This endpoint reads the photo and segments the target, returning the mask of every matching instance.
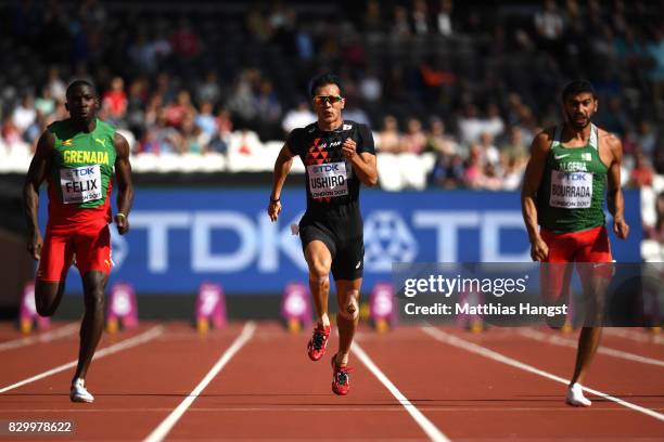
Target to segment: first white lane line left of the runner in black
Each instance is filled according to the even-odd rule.
[[[199,398],[201,392],[207,387],[209,382],[221,372],[221,369],[230,362],[230,360],[244,347],[252,336],[254,335],[254,330],[256,329],[256,324],[253,322],[248,322],[242,328],[242,333],[235,338],[233,343],[221,354],[221,358],[217,361],[217,363],[212,367],[207,375],[199,382],[196,388],[192,390],[191,393],[182,402],[177,406],[169,415],[159,424],[145,439],[144,442],[157,442],[163,441],[168,432],[173,429],[173,427],[178,422],[180,417],[187,412],[187,408],[191,406],[193,401]]]

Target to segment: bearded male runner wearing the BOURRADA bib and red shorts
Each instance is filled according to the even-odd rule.
[[[569,83],[562,92],[562,105],[564,125],[545,130],[535,138],[525,172],[521,200],[531,256],[535,261],[547,263],[612,262],[604,227],[604,198],[617,237],[625,239],[629,233],[621,190],[623,146],[616,136],[590,122],[598,101],[588,81]],[[599,324],[603,301],[599,298],[601,290],[597,290],[598,277],[608,280],[611,266],[592,268],[578,265],[577,270],[586,299],[593,302],[596,317],[592,322]],[[571,271],[569,265],[542,266],[542,292],[548,301],[566,292]],[[599,326],[583,327],[580,332],[574,374],[565,399],[570,405],[591,404],[584,396],[580,382],[600,336]]]

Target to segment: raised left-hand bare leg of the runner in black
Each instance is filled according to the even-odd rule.
[[[322,240],[314,239],[305,248],[305,259],[309,266],[309,289],[314,298],[318,325],[329,327],[328,298],[332,253]]]

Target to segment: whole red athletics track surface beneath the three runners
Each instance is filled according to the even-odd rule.
[[[246,339],[239,344],[240,336]],[[76,356],[77,333],[16,347],[21,338],[0,326],[0,391]],[[68,401],[74,370],[68,368],[1,392],[0,419],[74,420],[74,437],[55,440],[145,440],[149,434],[156,435],[153,440],[164,434],[166,440],[664,439],[664,367],[656,363],[598,354],[587,381],[651,415],[591,394],[593,406],[577,410],[562,402],[564,385],[519,365],[566,379],[573,348],[533,339],[522,329],[472,335],[409,326],[378,335],[365,327],[360,348],[397,390],[390,391],[356,352],[352,392],[339,398],[330,391],[329,367],[336,338],[317,363],[306,358],[307,339],[308,334],[290,335],[274,323],[255,329],[231,324],[204,338],[189,324],[142,324],[104,335],[100,352],[106,354],[88,376],[94,404]],[[611,335],[602,344],[664,361],[661,343]],[[214,367],[218,370],[210,375]],[[403,403],[395,394],[405,396]],[[157,428],[166,430],[155,433]],[[0,437],[5,440],[35,438]]]

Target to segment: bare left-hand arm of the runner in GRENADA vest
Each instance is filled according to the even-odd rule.
[[[51,167],[55,140],[48,130],[44,131],[37,142],[35,156],[30,161],[25,184],[23,186],[23,204],[25,220],[28,226],[27,249],[35,260],[41,256],[41,232],[39,232],[39,186],[46,180]]]

